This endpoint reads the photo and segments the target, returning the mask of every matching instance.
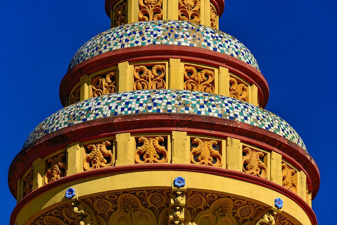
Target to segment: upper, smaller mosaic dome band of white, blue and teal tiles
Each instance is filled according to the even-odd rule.
[[[238,58],[260,71],[251,52],[233,36],[201,24],[177,20],[125,24],[100,33],[75,53],[67,71],[96,55],[145,45],[182,45],[208,49]],[[223,57],[226,58],[226,55]]]

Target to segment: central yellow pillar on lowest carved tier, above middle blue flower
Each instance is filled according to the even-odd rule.
[[[188,164],[187,132],[172,131],[172,164]]]

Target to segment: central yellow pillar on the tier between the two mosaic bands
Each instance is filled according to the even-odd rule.
[[[168,88],[170,89],[184,89],[184,73],[180,65],[180,59],[170,59],[169,73],[168,73]]]

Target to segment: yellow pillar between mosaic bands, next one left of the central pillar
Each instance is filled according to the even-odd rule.
[[[118,92],[132,90],[130,65],[128,61],[118,63],[117,85]]]

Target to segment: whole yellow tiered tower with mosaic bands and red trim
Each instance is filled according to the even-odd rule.
[[[71,60],[65,108],[10,167],[11,223],[316,224],[317,167],[263,109],[253,55],[217,30],[223,1],[105,8],[112,29]]]

